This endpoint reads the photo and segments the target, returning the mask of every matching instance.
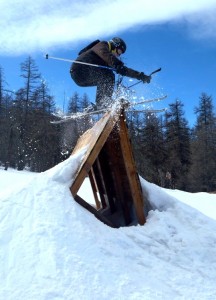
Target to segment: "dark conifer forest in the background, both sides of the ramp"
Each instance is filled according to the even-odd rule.
[[[23,86],[8,90],[0,66],[0,166],[43,172],[70,156],[78,137],[93,126],[86,116],[52,124],[56,103],[31,57],[20,64]],[[216,191],[216,116],[205,92],[194,107],[195,124],[176,98],[164,113],[127,113],[138,173],[161,187],[188,192]],[[90,105],[87,94],[71,96],[68,113]]]

